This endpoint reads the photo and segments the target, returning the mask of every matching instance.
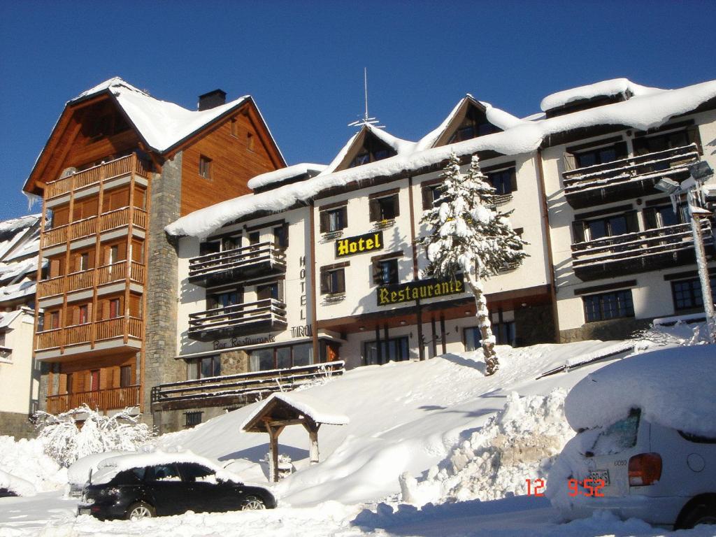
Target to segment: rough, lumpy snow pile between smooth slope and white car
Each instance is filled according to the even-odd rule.
[[[565,396],[565,390],[528,397],[512,392],[504,409],[455,448],[442,468],[433,466],[422,481],[401,475],[402,500],[425,505],[526,494],[526,480],[534,488],[536,479],[545,479],[553,457],[574,435],[564,419]]]

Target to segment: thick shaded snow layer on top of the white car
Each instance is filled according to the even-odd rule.
[[[569,392],[574,430],[642,417],[696,435],[716,436],[716,345],[675,347],[629,357],[589,374]]]

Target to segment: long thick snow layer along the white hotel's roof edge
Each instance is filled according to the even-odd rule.
[[[395,144],[392,147],[400,148],[397,155],[347,170],[332,171],[345,157],[358,136],[357,133],[328,168],[316,177],[300,183],[284,185],[270,192],[243,195],[200,209],[171,223],[165,231],[175,236],[204,238],[237,218],[258,211],[285,211],[298,203],[308,203],[323,190],[345,187],[360,180],[412,173],[442,163],[453,151],[458,156],[474,155],[488,150],[503,155],[519,155],[537,150],[543,140],[550,135],[578,128],[627,125],[639,130],[648,130],[663,125],[671,117],[690,112],[703,102],[715,98],[716,80],[679,89],[647,89],[648,91],[644,92],[637,91],[634,97],[627,101],[532,121],[520,120],[492,107],[489,103],[483,103],[488,120],[503,128],[502,132],[429,148],[420,148],[422,147],[420,142],[406,142],[392,137],[392,143]],[[372,127],[372,132],[377,131],[381,132],[382,140],[389,139],[390,135]]]

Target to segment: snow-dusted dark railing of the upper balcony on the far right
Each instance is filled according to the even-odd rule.
[[[664,151],[647,153],[610,163],[595,164],[562,173],[564,194],[568,201],[591,190],[614,189],[629,183],[649,181],[652,187],[657,180],[688,173],[688,165],[699,160],[695,143]]]

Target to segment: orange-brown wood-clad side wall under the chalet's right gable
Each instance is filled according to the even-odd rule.
[[[231,134],[231,120],[236,119]],[[249,135],[251,135],[249,137]],[[253,140],[253,142],[250,142]],[[249,149],[253,145],[253,150]],[[211,159],[211,179],[199,175],[199,159]],[[248,194],[249,179],[275,170],[251,115],[237,112],[216,129],[185,148],[182,156],[181,216],[219,201]]]

